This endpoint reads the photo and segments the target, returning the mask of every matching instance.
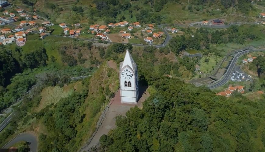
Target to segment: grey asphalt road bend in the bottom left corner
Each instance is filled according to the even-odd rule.
[[[7,144],[5,144],[5,146],[2,147],[2,148],[9,148],[12,145],[14,145],[15,143],[19,142],[19,141],[27,141],[27,142],[29,142],[30,143],[30,152],[37,152],[37,147],[38,147],[37,137],[34,136],[31,133],[21,133],[21,134],[19,134],[14,139],[12,139]]]

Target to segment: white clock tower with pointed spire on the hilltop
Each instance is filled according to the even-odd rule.
[[[121,103],[136,104],[139,96],[138,70],[128,49],[120,63],[120,86]]]

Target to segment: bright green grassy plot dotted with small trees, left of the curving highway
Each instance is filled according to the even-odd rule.
[[[208,58],[209,62],[205,62],[204,61],[205,58]],[[222,60],[221,57],[217,57],[217,58],[216,57],[202,57],[200,59],[200,71],[203,73],[210,73],[210,71],[214,70],[214,67],[220,60]]]

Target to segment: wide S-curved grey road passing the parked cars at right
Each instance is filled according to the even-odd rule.
[[[265,51],[264,49],[257,49],[257,50],[245,50],[245,51],[241,51],[237,54],[235,54],[233,60],[231,61],[228,69],[226,70],[225,74],[223,75],[223,79],[221,79],[220,81],[217,81],[217,83],[213,84],[213,85],[209,85],[208,88],[210,89],[214,89],[214,88],[217,88],[217,87],[220,87],[221,85],[224,85],[226,84],[226,82],[229,80],[230,76],[231,76],[231,73],[235,67],[235,64],[238,60],[238,58],[245,54],[245,53],[249,53],[249,52],[255,52],[255,51]]]

